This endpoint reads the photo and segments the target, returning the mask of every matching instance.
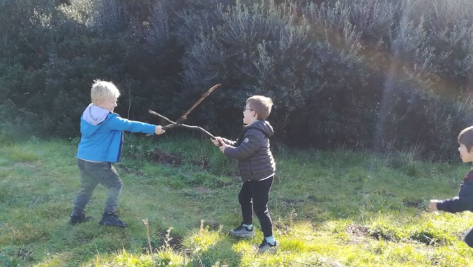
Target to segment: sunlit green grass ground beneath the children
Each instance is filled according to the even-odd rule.
[[[471,213],[425,213],[456,196],[469,166],[352,151],[276,154],[269,210],[280,250],[227,235],[241,221],[236,165],[211,142],[127,137],[119,213],[126,229],[67,224],[80,187],[77,140],[0,146],[0,266],[469,266]],[[408,160],[405,160],[407,158]],[[144,224],[147,220],[149,227]],[[256,218],[255,226],[259,229]],[[151,250],[150,250],[151,247]]]

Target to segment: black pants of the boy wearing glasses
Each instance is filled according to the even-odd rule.
[[[273,222],[268,211],[269,190],[273,179],[274,176],[263,181],[246,181],[241,185],[238,194],[243,224],[253,224],[253,211],[255,211],[265,237],[273,236]]]

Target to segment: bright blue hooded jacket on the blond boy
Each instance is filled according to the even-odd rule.
[[[154,134],[156,125],[129,121],[90,104],[80,119],[77,158],[97,162],[119,162],[123,146],[123,131]]]

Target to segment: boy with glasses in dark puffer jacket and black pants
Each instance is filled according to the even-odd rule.
[[[212,140],[220,146],[220,151],[239,162],[239,172],[243,185],[238,194],[243,222],[230,235],[250,238],[255,234],[253,228],[253,210],[260,220],[263,241],[258,252],[276,250],[278,244],[273,237],[273,222],[268,211],[269,190],[274,179],[276,163],[269,149],[269,137],[273,128],[266,121],[271,113],[273,101],[265,96],[252,96],[246,100],[243,109],[243,124],[237,141],[222,137]]]

